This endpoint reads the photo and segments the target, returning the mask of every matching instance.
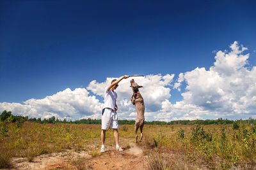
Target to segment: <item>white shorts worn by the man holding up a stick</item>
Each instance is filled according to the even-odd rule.
[[[101,129],[107,130],[109,125],[111,129],[119,129],[116,111],[105,108],[101,117]]]

